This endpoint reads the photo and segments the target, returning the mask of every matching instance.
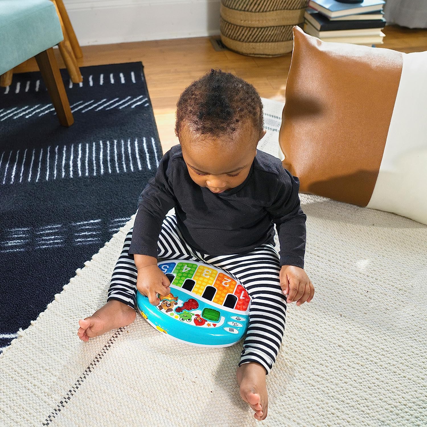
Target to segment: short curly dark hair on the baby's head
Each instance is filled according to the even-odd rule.
[[[199,135],[232,135],[237,123],[250,120],[260,137],[264,129],[263,104],[248,82],[211,69],[185,88],[176,104],[175,135],[182,123]]]

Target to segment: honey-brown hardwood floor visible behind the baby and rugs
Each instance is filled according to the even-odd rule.
[[[427,50],[427,30],[386,26],[381,47],[401,52]],[[252,58],[229,50],[215,51],[208,37],[141,41],[82,47],[80,66],[142,61],[160,141],[164,152],[178,142],[174,133],[175,104],[193,80],[211,68],[221,68],[252,83],[261,97],[284,100],[291,54]],[[57,51],[57,50],[56,50]],[[56,52],[59,66],[64,63]],[[15,72],[37,70],[32,58]]]

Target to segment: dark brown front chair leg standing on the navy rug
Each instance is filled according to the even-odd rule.
[[[59,123],[62,126],[71,126],[74,123],[73,114],[71,114],[70,102],[64,88],[64,82],[59,72],[58,63],[53,53],[53,48],[39,53],[35,56],[44,84],[47,87]]]

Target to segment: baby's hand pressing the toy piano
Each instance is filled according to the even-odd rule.
[[[170,281],[158,268],[157,264],[148,265],[138,269],[136,281],[137,290],[146,295],[151,304],[157,305],[160,299],[156,294],[167,295],[170,292]]]

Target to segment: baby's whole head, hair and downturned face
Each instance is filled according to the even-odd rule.
[[[260,95],[239,77],[211,70],[179,97],[175,134],[196,184],[213,193],[237,187],[265,134]]]

